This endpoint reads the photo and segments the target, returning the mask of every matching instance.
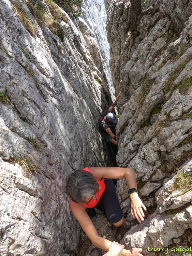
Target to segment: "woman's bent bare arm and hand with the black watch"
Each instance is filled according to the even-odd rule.
[[[96,180],[100,181],[102,178],[106,179],[120,179],[125,178],[129,189],[136,188],[137,182],[135,179],[135,173],[132,169],[121,167],[91,167],[89,171],[93,174]],[[133,217],[137,219],[139,223],[144,221],[143,209],[146,211],[145,205],[142,203],[136,192],[130,194],[131,198],[131,213]],[[143,207],[143,209],[142,209]]]

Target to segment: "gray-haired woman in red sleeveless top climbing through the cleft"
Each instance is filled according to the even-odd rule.
[[[115,188],[111,179],[125,178],[131,198],[131,213],[138,222],[144,221],[142,207],[145,205],[137,194],[137,182],[132,169],[119,167],[86,167],[68,175],[66,193],[74,216],[79,221],[91,242],[104,251],[109,250],[112,242],[98,235],[88,210],[91,208],[103,211],[114,226],[119,227],[124,222],[123,212],[119,205]],[[88,208],[88,209],[87,209]],[[122,251],[122,256],[140,256],[142,248],[132,248]],[[146,255],[146,254],[145,254]]]

